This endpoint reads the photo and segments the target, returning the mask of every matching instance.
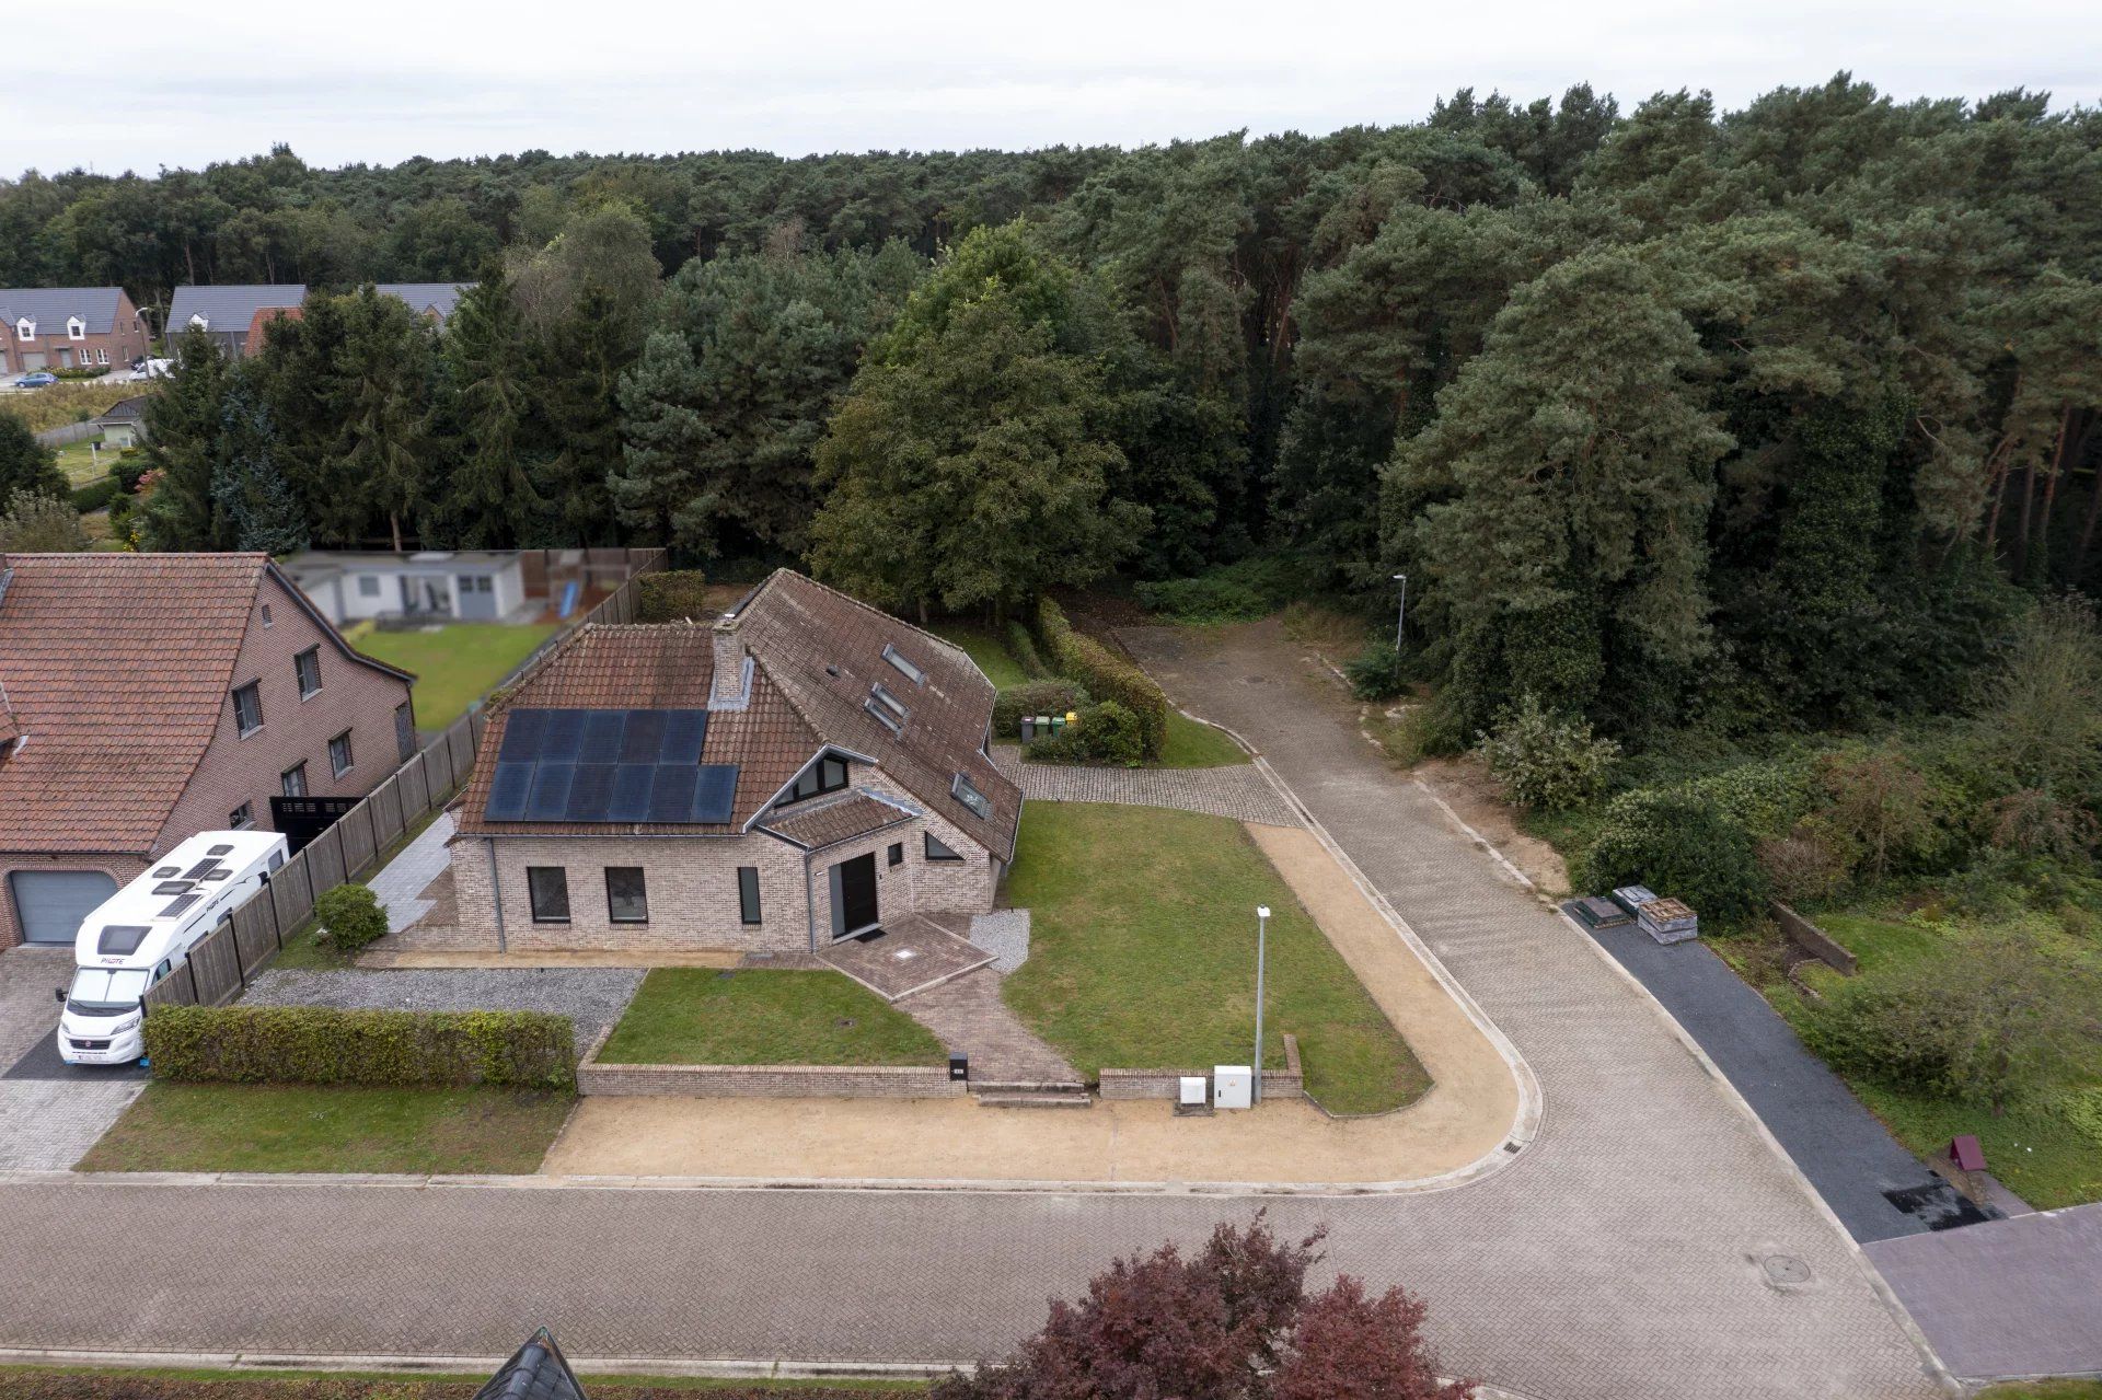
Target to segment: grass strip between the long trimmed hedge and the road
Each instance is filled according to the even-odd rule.
[[[513,1089],[153,1083],[80,1171],[540,1169],[574,1099]]]

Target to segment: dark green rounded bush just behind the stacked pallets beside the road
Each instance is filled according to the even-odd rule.
[[[1711,929],[1749,925],[1768,883],[1751,835],[1713,801],[1679,792],[1623,792],[1606,803],[1598,839],[1570,868],[1576,889],[1648,885],[1686,900]]]

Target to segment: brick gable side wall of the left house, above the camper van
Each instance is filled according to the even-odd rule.
[[[265,608],[271,612],[269,626],[263,626]],[[301,700],[292,658],[307,647],[320,647],[322,689]],[[231,692],[250,681],[261,689],[263,727],[242,738]],[[408,702],[408,683],[343,656],[292,589],[271,572],[263,574],[263,586],[256,589],[248,635],[227,692],[219,706],[219,729],[162,828],[156,853],[200,830],[227,826],[242,803],[250,803],[254,824],[269,830],[269,799],[282,792],[284,769],[294,763],[307,765],[309,797],[364,797],[401,765],[395,706]],[[345,729],[351,732],[351,769],[336,778],[328,763],[328,740]]]

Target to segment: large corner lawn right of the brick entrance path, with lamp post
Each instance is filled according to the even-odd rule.
[[[1032,803],[1007,898],[1028,906],[1030,961],[1003,984],[1030,1028],[1093,1078],[1246,1064],[1255,1043],[1255,906],[1270,921],[1263,1059],[1299,1038],[1307,1093],[1333,1112],[1398,1108],[1423,1066],[1225,818],[1158,807]]]

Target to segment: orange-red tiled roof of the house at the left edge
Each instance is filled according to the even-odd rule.
[[[219,727],[269,555],[0,555],[0,687],[23,734],[0,759],[0,849],[151,849]]]

